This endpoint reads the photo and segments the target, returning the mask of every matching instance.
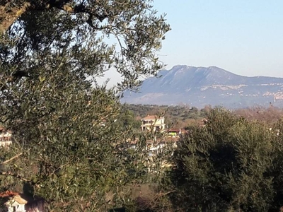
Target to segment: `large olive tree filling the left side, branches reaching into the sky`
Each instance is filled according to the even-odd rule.
[[[118,90],[139,86],[163,66],[168,30],[151,1],[0,1],[0,124],[14,140],[0,189],[64,211],[127,204],[121,188],[144,175],[143,153],[125,151],[117,90],[96,79],[117,71]]]

